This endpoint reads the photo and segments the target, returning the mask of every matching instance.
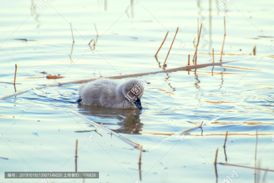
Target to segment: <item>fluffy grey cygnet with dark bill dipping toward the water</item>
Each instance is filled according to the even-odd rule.
[[[84,83],[79,87],[78,102],[84,105],[110,107],[117,109],[142,109],[141,96],[144,92],[143,80],[133,78],[119,81],[114,79],[98,79]]]

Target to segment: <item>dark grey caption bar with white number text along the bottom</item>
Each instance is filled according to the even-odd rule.
[[[99,178],[98,171],[5,171],[5,178]]]

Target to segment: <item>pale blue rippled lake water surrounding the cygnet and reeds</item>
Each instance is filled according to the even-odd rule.
[[[0,182],[40,181],[5,179],[5,171],[75,171],[76,140],[77,171],[98,171],[99,179],[50,182],[227,182],[231,172],[233,183],[273,182],[273,171],[246,167],[274,170],[274,2],[106,2],[1,2]],[[148,83],[142,111],[79,105],[80,83],[36,89],[183,67],[188,54],[192,65],[197,19],[197,64],[213,62],[212,48],[220,62],[224,16],[222,60],[234,62],[138,76]],[[128,140],[146,150],[141,171],[140,150]],[[218,178],[217,148],[217,163],[233,164],[217,164]]]

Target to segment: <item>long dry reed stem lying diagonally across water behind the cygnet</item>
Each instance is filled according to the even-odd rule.
[[[198,65],[189,65],[189,66],[176,67],[176,68],[173,68],[173,69],[166,69],[166,70],[156,71],[156,72],[144,72],[144,73],[137,73],[137,74],[126,74],[126,75],[119,75],[119,76],[109,76],[109,77],[104,77],[104,78],[113,78],[113,79],[130,78],[130,77],[144,76],[144,75],[149,75],[149,74],[167,73],[167,72],[174,72],[174,71],[185,71],[185,70],[202,68],[202,67],[213,66],[213,65],[222,65],[222,64],[230,63],[230,62],[234,62],[234,61],[209,63],[209,64],[198,64]],[[47,87],[51,87],[51,86],[65,85],[65,84],[71,84],[71,83],[83,83],[83,82],[87,82],[87,81],[93,81],[93,80],[96,80],[96,79],[99,79],[99,78],[83,79],[83,80],[68,81],[68,82],[61,82],[61,83],[58,82],[58,83],[51,84],[51,85],[45,85],[45,86],[36,87],[35,89],[38,90],[38,89],[47,88]],[[14,95],[18,95],[18,94],[21,94],[21,93],[24,93],[24,92],[27,92],[27,91],[30,91],[30,90],[31,89],[23,90],[23,91],[20,91],[20,92],[14,92],[12,94],[0,97],[0,99],[11,97],[11,96],[14,96]]]

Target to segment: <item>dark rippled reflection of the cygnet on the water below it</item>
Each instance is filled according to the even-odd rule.
[[[90,116],[92,121],[112,129],[116,133],[140,134],[143,123],[138,109],[112,109],[90,105],[78,105],[79,113]],[[115,127],[114,127],[115,126]],[[118,127],[118,128],[117,128]]]

